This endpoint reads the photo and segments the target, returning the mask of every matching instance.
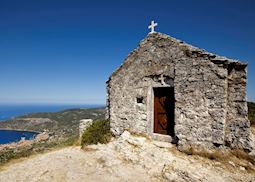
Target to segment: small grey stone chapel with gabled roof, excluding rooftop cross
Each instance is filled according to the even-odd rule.
[[[111,131],[250,151],[246,67],[153,31],[107,81]]]

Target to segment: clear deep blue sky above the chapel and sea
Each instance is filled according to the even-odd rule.
[[[248,66],[255,101],[253,0],[1,0],[0,104],[104,104],[105,81],[157,31]]]

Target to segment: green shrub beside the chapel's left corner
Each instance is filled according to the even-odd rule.
[[[83,147],[90,144],[108,143],[111,137],[110,121],[96,120],[84,131],[81,145]]]

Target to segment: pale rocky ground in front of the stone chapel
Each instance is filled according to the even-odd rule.
[[[251,164],[250,164],[251,165]],[[68,147],[13,161],[0,181],[255,181],[255,166],[186,155],[163,142],[124,132],[106,145]]]

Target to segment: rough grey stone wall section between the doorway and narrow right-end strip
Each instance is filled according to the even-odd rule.
[[[180,145],[224,143],[227,70],[203,58],[176,63],[176,135]]]

